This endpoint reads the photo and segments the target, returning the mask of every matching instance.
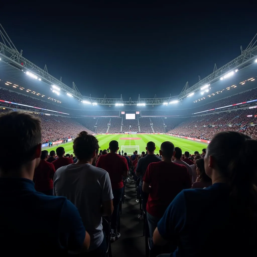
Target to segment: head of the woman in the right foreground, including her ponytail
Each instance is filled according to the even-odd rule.
[[[214,180],[227,182],[231,196],[236,198],[238,204],[256,204],[257,169],[249,161],[256,155],[256,140],[235,131],[219,132],[206,150],[205,172],[213,183]]]

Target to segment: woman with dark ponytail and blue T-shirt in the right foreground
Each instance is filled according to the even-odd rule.
[[[159,221],[154,244],[177,245],[168,255],[174,257],[256,256],[257,168],[249,161],[256,155],[249,136],[215,134],[204,157],[212,186],[181,191]]]

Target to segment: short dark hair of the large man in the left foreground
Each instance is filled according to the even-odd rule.
[[[5,160],[0,162],[0,169],[8,171],[20,168],[31,160],[37,145],[41,143],[41,121],[29,113],[16,111],[0,114],[0,124],[1,144],[5,152],[9,153]],[[15,155],[15,161],[14,145],[19,151]]]

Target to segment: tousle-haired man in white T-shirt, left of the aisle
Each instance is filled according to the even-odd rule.
[[[91,242],[86,256],[106,256],[102,216],[113,212],[111,181],[105,170],[94,167],[98,156],[98,141],[80,132],[74,139],[76,164],[59,168],[54,176],[54,195],[65,196],[76,205]],[[79,182],[77,182],[79,181]]]

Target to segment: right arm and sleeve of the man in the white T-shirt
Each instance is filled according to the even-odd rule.
[[[113,213],[113,193],[108,172],[101,178],[100,183],[102,186],[102,216],[111,216]]]

